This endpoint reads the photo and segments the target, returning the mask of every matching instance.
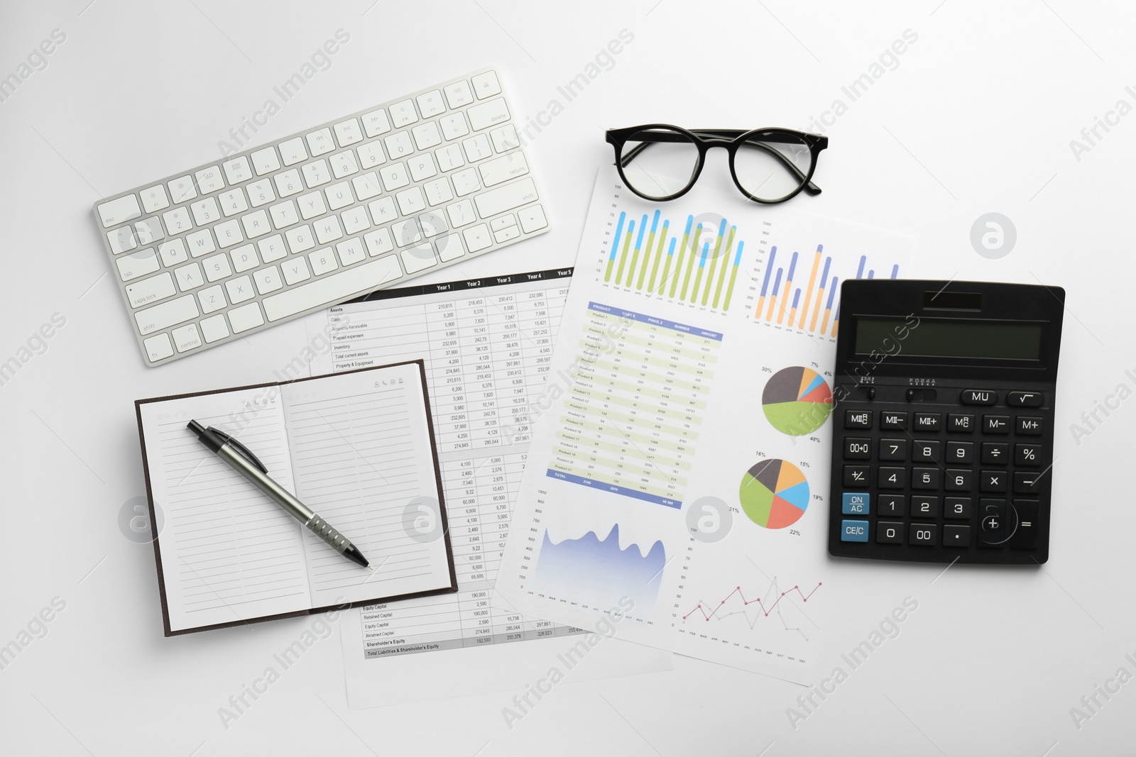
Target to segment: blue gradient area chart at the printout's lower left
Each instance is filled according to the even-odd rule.
[[[588,531],[578,539],[554,542],[545,531],[533,588],[601,609],[619,607],[620,599],[627,598],[635,603],[629,614],[650,616],[666,564],[661,541],[651,545],[646,555],[636,544],[620,549],[618,523],[603,539]]]

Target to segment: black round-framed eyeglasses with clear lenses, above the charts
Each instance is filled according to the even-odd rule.
[[[645,200],[674,200],[690,192],[711,148],[729,152],[734,184],[754,202],[785,202],[801,190],[817,195],[812,171],[828,146],[827,136],[785,128],[688,132],[669,124],[608,129],[607,138],[616,149],[619,176]]]

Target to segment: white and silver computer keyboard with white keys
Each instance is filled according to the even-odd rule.
[[[548,230],[495,69],[100,201],[148,365]]]

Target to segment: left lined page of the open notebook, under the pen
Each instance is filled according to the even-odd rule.
[[[292,489],[276,388],[141,405],[172,631],[311,607],[300,523],[185,428],[215,426]],[[235,420],[235,422],[234,422]]]

